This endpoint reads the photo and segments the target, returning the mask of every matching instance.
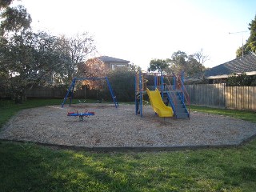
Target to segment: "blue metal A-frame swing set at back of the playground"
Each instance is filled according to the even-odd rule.
[[[84,80],[90,80],[90,81],[105,80],[106,84],[107,84],[107,86],[108,86],[108,88],[110,90],[110,94],[111,94],[111,98],[112,98],[112,100],[114,102],[114,106],[116,108],[118,108],[118,100],[117,100],[116,96],[114,95],[114,92],[113,92],[112,87],[110,85],[110,81],[109,81],[109,79],[107,77],[105,77],[105,78],[74,78],[72,80],[71,85],[69,87],[69,90],[67,91],[66,96],[65,96],[65,98],[64,98],[64,100],[62,102],[62,108],[65,105],[65,102],[66,102],[67,98],[70,98],[70,106],[71,106],[71,102],[72,102],[72,99],[74,97],[75,82],[77,82],[77,81],[84,81]]]

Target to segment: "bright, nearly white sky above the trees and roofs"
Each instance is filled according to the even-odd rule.
[[[206,67],[235,58],[256,15],[255,0],[22,0],[34,30],[75,36],[88,32],[98,55],[146,70],[154,58],[202,49]],[[242,32],[243,31],[243,32]]]

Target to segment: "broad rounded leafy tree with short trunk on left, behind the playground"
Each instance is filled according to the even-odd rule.
[[[6,85],[16,101],[26,100],[30,86],[51,85],[53,75],[62,73],[62,59],[55,42],[55,37],[44,32],[23,31],[0,45],[4,53],[0,66],[6,69]]]

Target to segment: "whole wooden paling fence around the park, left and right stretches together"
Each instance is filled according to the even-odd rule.
[[[154,87],[152,86],[152,89]],[[159,87],[161,89],[161,87]],[[254,110],[256,111],[255,86],[226,86],[221,84],[195,84],[186,85],[190,95],[191,105],[216,106],[227,109]],[[27,90],[29,98],[64,98],[66,89],[55,87],[34,87]],[[77,90],[75,98],[96,98],[96,90]],[[5,91],[0,93],[0,98],[10,97]]]

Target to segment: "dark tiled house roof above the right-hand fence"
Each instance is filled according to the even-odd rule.
[[[221,65],[214,66],[210,70],[206,70],[206,78],[214,78],[216,76],[228,76],[229,74],[238,74],[256,71],[256,54],[244,55],[243,58],[235,58],[230,62],[225,62]],[[248,74],[248,73],[246,73]]]

